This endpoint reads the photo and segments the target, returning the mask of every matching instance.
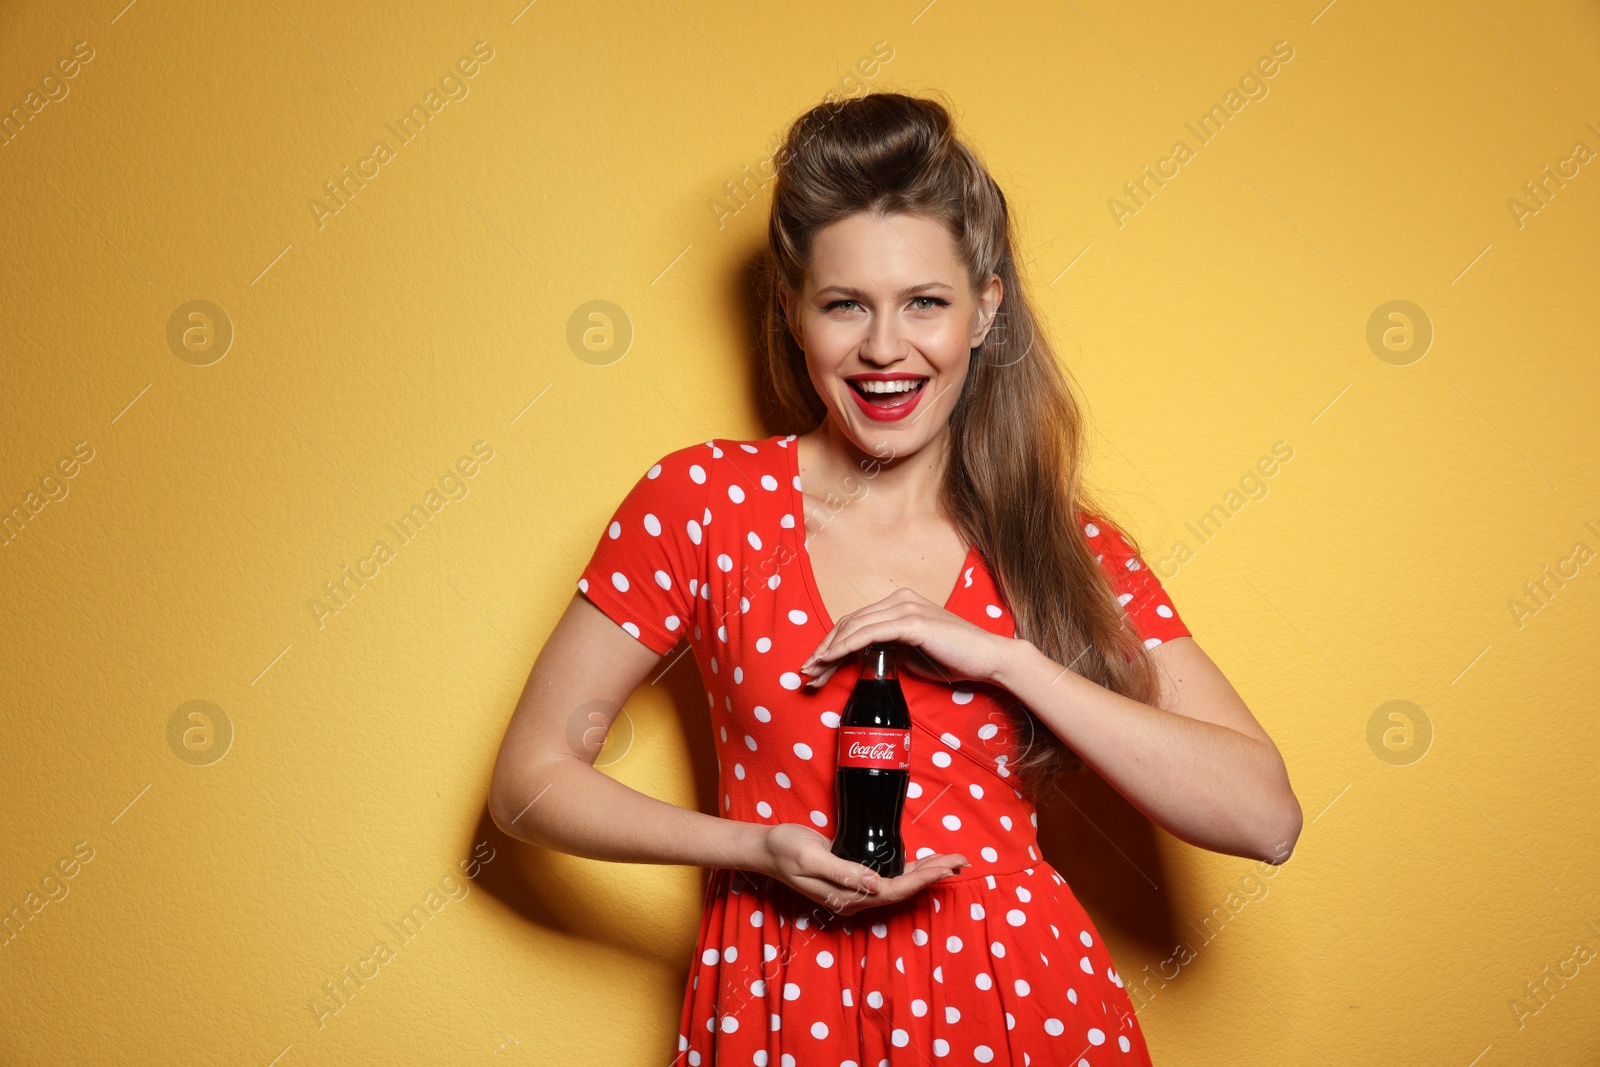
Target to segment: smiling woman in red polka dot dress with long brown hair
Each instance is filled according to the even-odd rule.
[[[1080,483],[1083,421],[1005,197],[931,99],[802,117],[778,155],[765,371],[806,434],[653,464],[539,654],[494,768],[507,833],[710,867],[678,1059],[1149,1064],[1035,797],[1086,763],[1192,845],[1283,862],[1283,760]],[[686,638],[717,814],[594,768]],[[838,859],[838,717],[902,649],[906,872]],[[605,709],[595,713],[595,709]]]

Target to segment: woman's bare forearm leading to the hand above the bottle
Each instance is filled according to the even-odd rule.
[[[1299,805],[1283,760],[1237,729],[1114,693],[1013,641],[995,685],[1179,840],[1230,856],[1288,859]]]

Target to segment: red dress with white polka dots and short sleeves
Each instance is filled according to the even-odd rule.
[[[834,622],[805,545],[794,442],[718,438],[664,456],[616,509],[578,587],[656,653],[690,640],[723,817],[832,838],[838,717],[859,672],[845,664],[821,689],[803,686],[800,664]],[[1122,536],[1083,522],[1144,643],[1187,635]],[[944,606],[1016,635],[976,545]],[[715,869],[674,1064],[1149,1064],[1117,968],[1040,856],[1034,805],[1013,787],[1010,694],[907,670],[899,680],[912,717],[906,848],[971,865],[854,915]]]

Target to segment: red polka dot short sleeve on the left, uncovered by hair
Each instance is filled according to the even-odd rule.
[[[710,493],[709,450],[661,458],[611,514],[578,589],[642,645],[666,654],[688,629]]]

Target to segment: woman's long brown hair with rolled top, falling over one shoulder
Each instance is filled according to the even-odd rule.
[[[1115,693],[1154,702],[1155,662],[1083,530],[1085,517],[1104,512],[1080,482],[1085,419],[1070,376],[1018,275],[1005,195],[957,138],[949,109],[901,93],[826,102],[794,122],[774,160],[760,317],[766,384],[786,414],[803,429],[827,418],[779,301],[779,288],[800,294],[818,230],[859,211],[941,221],[971,290],[990,274],[1005,286],[950,413],[946,509],[989,563],[1019,637]],[[1006,763],[1019,790],[1037,798],[1064,768],[1083,769],[1027,707],[1008,707],[1022,739]]]

